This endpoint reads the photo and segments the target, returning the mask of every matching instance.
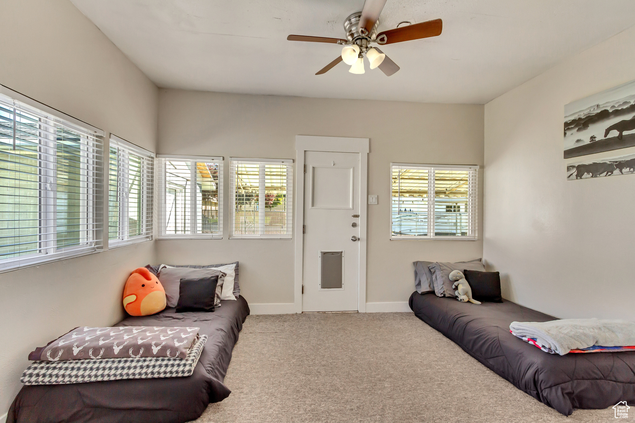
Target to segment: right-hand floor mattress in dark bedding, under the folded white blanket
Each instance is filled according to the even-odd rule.
[[[553,316],[507,300],[471,304],[418,292],[410,296],[410,308],[493,372],[564,415],[574,408],[635,403],[635,352],[559,356],[509,332],[514,320],[547,322]]]

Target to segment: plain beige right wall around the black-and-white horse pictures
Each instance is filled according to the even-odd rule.
[[[635,79],[635,28],[485,106],[485,240],[503,296],[560,318],[635,320],[635,176],[566,181],[564,105]],[[635,148],[587,158],[634,153]]]

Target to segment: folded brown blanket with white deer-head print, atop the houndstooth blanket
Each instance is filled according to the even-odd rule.
[[[34,361],[170,357],[184,359],[197,327],[79,327],[29,354]]]

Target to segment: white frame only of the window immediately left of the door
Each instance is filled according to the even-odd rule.
[[[286,173],[286,233],[272,233],[272,234],[236,234],[234,228],[236,227],[236,186],[234,183],[234,173],[232,172],[234,162],[258,164],[262,166],[259,172],[263,173],[264,166],[267,164],[285,164],[287,169]],[[291,240],[293,239],[293,159],[255,159],[250,157],[230,157],[229,158],[229,239],[268,239],[268,240]],[[258,193],[259,204],[260,196],[265,195],[265,188],[259,189]],[[265,211],[263,210],[262,213]]]

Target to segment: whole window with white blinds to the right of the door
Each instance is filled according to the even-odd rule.
[[[392,163],[391,239],[476,239],[478,166]]]

